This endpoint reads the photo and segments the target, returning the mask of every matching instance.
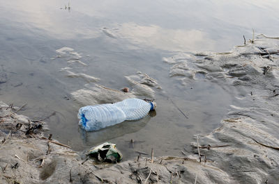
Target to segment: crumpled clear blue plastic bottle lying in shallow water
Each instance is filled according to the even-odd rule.
[[[77,117],[80,119],[79,124],[86,131],[98,131],[100,128],[119,124],[125,120],[141,119],[155,108],[155,102],[125,99],[117,103],[82,107]]]

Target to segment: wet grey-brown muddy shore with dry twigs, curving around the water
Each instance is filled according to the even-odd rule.
[[[164,58],[170,74],[179,76],[183,85],[203,76],[234,90],[241,104],[232,104],[212,133],[185,142],[183,157],[140,156],[114,165],[96,164],[86,160],[84,152],[43,137],[43,122],[18,115],[20,108],[1,102],[0,183],[276,183],[278,45],[278,38],[258,35],[229,53]]]

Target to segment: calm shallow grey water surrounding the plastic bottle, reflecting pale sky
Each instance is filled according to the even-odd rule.
[[[75,150],[111,141],[124,158],[151,147],[158,155],[179,155],[239,102],[234,87],[202,73],[199,80],[177,80],[181,74],[164,58],[229,51],[243,35],[252,39],[252,28],[275,36],[278,8],[273,1],[1,1],[0,99],[27,103],[22,114],[33,119],[55,111],[46,119],[47,133]],[[77,126],[81,104],[71,93],[96,83],[119,90],[138,71],[162,88],[154,89],[156,116],[84,133]]]

